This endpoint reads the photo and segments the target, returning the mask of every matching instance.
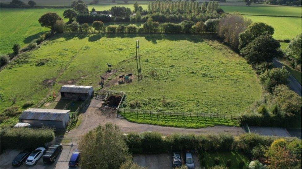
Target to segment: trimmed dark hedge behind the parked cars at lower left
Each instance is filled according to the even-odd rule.
[[[54,139],[52,129],[2,128],[0,130],[1,151],[4,149],[24,149],[45,146]]]

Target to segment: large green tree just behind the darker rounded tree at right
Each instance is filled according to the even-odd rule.
[[[239,50],[248,45],[258,36],[261,35],[273,35],[274,28],[263,22],[255,22],[248,26],[246,30],[239,34]]]

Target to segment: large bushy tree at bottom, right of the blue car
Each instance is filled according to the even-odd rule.
[[[118,126],[107,123],[88,131],[79,143],[81,168],[119,168],[131,161],[123,133]]]

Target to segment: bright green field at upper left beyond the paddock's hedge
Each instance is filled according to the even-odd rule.
[[[0,8],[0,53],[12,52],[15,43],[22,47],[38,38],[48,28],[41,27],[38,19],[47,12],[63,17],[65,9]]]

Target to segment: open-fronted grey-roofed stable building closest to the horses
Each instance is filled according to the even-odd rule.
[[[92,86],[64,85],[60,91],[62,99],[85,100],[93,95]]]

